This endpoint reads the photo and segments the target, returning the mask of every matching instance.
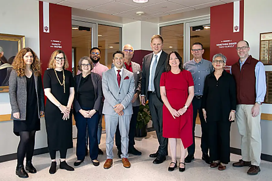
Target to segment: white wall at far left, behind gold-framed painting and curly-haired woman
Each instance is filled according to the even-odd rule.
[[[28,10],[27,10],[27,9]],[[40,56],[39,46],[39,2],[34,0],[1,1],[0,33],[24,35],[26,47]],[[5,47],[3,47],[5,51]],[[0,93],[0,115],[10,114],[8,93]],[[0,156],[17,152],[19,138],[13,134],[13,122],[0,122]],[[36,134],[35,149],[47,147],[44,119],[41,131]]]

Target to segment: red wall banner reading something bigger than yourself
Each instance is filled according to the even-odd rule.
[[[236,44],[244,37],[244,0],[211,7],[210,60],[217,53],[227,57],[225,69],[238,61]]]

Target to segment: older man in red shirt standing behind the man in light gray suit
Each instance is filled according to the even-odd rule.
[[[141,155],[141,151],[136,150],[134,147],[135,141],[135,132],[136,132],[136,124],[137,124],[137,116],[139,112],[139,107],[140,107],[140,93],[141,93],[141,65],[136,63],[136,62],[131,62],[131,59],[134,54],[133,47],[130,44],[126,44],[123,47],[123,53],[125,54],[125,59],[124,59],[124,65],[123,67],[127,69],[128,71],[133,73],[133,77],[135,80],[135,91],[134,91],[134,97],[133,100],[131,101],[132,103],[132,109],[133,109],[133,114],[131,116],[130,120],[130,126],[129,126],[129,133],[128,133],[128,153],[129,154],[134,154],[134,155]],[[114,64],[112,63],[112,68],[114,67]],[[121,158],[121,135],[119,131],[119,125],[117,125],[116,133],[115,133],[115,145],[118,149],[118,157]]]

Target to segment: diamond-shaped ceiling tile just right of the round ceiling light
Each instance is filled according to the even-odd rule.
[[[153,11],[160,11],[160,12],[166,12],[166,11],[173,11],[176,9],[186,8],[183,5],[178,5],[176,3],[172,2],[160,2],[156,3],[154,5],[144,6],[146,9],[150,9]]]

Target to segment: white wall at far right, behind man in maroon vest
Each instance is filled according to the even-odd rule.
[[[259,59],[260,33],[272,32],[271,0],[245,0],[244,1],[244,40],[248,41],[250,54]],[[265,65],[266,71],[272,71],[272,65]],[[272,104],[263,104],[262,112],[272,114]],[[272,155],[272,121],[261,120],[262,153]],[[231,147],[241,148],[241,136],[237,124],[232,124]]]

